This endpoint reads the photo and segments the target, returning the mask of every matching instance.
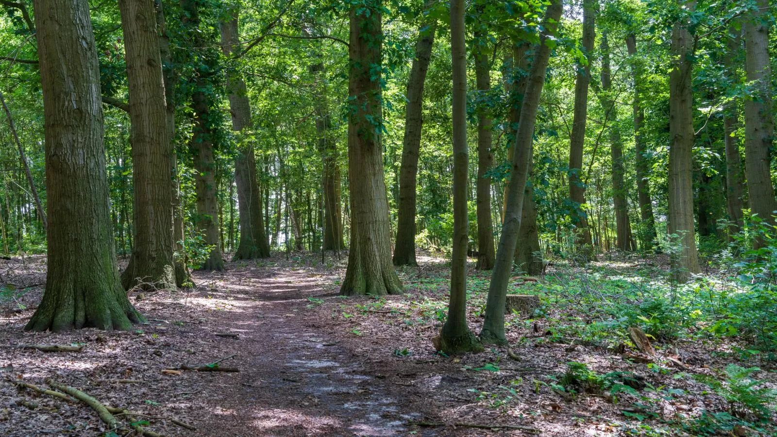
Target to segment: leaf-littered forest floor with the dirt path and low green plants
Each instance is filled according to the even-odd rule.
[[[622,325],[601,323],[610,319],[597,305],[619,305],[608,296],[647,287],[649,276],[635,271],[665,273],[655,259],[514,278],[512,292],[542,296],[542,314],[507,317],[513,359],[503,348],[434,351],[430,338],[448,299],[444,260],[421,257],[419,268],[399,269],[406,294],[372,299],[338,295],[345,257],[292,255],[195,272],[197,287],[182,292],[132,293],[150,322],[137,330],[64,334],[23,332],[43,292],[45,257],[0,260],[0,435],[128,434],[108,429],[85,404],[17,387],[48,388],[47,379],[132,411],[117,416],[124,427],[164,435],[698,435],[716,421],[709,414],[733,405],[709,379],[731,362],[767,367],[758,354],[732,358],[747,349],[726,340],[678,337],[646,355]],[[470,271],[476,333],[488,279]],[[14,348],[20,344],[82,350]],[[239,372],[180,369],[221,358],[211,367]],[[777,386],[774,372],[756,375]],[[770,420],[716,430],[768,433]]]

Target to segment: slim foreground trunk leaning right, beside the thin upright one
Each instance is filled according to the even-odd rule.
[[[534,63],[528,76],[526,93],[521,105],[521,117],[515,138],[515,153],[510,169],[510,191],[508,192],[507,208],[505,208],[502,235],[497,249],[497,260],[491,274],[488,299],[486,301],[486,320],[480,331],[480,341],[484,343],[507,344],[504,337],[504,305],[507,295],[507,283],[510,281],[510,271],[513,267],[515,246],[518,239],[518,229],[524,206],[524,187],[528,177],[528,164],[531,154],[531,140],[534,135],[535,122],[542,86],[545,84],[545,70],[548,68],[551,47],[547,40],[556,34],[563,4],[561,0],[552,0],[545,11],[542,20],[543,32],[539,45],[535,50]]]

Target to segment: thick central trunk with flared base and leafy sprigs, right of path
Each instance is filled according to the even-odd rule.
[[[381,145],[381,4],[350,9],[348,78],[348,180],[350,253],[340,292],[385,295],[402,292],[391,260],[389,199]]]

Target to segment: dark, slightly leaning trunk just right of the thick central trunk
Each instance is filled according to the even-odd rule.
[[[421,24],[416,42],[416,57],[410,67],[405,96],[405,137],[402,141],[402,166],[399,168],[399,204],[397,205],[394,265],[416,265],[416,174],[421,145],[423,82],[427,77],[434,45],[437,20]]]

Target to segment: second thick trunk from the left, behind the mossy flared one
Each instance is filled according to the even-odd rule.
[[[170,189],[175,158],[166,123],[156,11],[153,2],[131,0],[120,0],[119,10],[130,93],[135,240],[121,282],[126,289],[176,288]]]

